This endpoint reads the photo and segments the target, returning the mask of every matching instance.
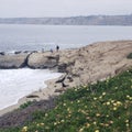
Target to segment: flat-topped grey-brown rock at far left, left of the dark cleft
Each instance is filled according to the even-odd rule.
[[[0,56],[0,68],[21,68],[25,66],[28,54],[12,54]]]

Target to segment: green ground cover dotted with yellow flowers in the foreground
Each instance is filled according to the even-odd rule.
[[[23,128],[0,132],[132,132],[132,69],[68,89],[55,109],[36,111]]]

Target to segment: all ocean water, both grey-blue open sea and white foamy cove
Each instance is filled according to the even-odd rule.
[[[132,26],[0,24],[0,52],[76,48],[95,42],[132,40]],[[62,74],[48,69],[0,69],[0,110]]]

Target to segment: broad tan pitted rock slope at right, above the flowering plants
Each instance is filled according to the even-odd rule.
[[[132,53],[132,41],[100,42],[59,56],[59,64],[77,78],[79,84],[112,77],[132,66],[127,56]]]

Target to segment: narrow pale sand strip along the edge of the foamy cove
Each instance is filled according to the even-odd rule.
[[[63,76],[63,74],[61,76]],[[58,96],[59,95],[58,92],[54,92],[56,89],[62,88],[61,85],[55,84],[55,81],[57,81],[58,78],[59,77],[57,77],[55,79],[48,79],[48,80],[44,81],[44,84],[46,85],[45,88],[40,89],[40,90],[35,90],[35,91],[18,99],[16,103],[1,109],[0,110],[0,117],[4,116],[6,113],[12,112],[13,110],[19,109],[21,105],[26,103],[28,101],[48,100],[48,98],[51,96]],[[53,87],[53,85],[54,85],[54,87]],[[30,96],[36,96],[36,98],[28,98]]]

